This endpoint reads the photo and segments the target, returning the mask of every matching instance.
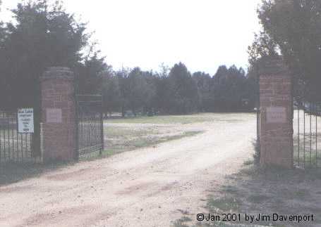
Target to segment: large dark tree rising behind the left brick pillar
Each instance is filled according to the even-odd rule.
[[[75,68],[87,44],[85,24],[63,11],[61,4],[49,6],[46,0],[18,4],[16,22],[6,24],[1,45],[0,77],[5,81],[8,108],[34,106],[40,98],[40,76],[51,66]]]

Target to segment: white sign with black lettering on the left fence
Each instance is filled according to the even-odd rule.
[[[34,133],[33,109],[18,110],[18,132],[20,134]]]

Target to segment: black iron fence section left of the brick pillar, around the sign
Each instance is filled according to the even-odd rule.
[[[0,164],[35,162],[32,137],[33,134],[18,133],[17,112],[0,111]]]

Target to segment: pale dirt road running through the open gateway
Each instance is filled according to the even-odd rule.
[[[253,154],[255,115],[192,124],[204,134],[80,162],[0,188],[0,226],[171,226]]]

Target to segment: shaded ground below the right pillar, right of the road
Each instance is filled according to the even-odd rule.
[[[190,214],[177,220],[174,226],[321,226],[321,169],[260,169],[248,161],[238,174],[227,176],[224,185],[209,193],[207,215],[241,214],[241,221],[225,222],[221,218],[221,222],[197,222],[196,214]],[[314,221],[249,223],[244,220],[245,214],[313,214]]]

